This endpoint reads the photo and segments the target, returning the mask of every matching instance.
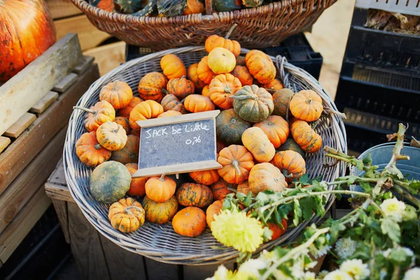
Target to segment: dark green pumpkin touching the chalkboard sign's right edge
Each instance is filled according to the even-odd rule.
[[[242,133],[252,123],[242,120],[233,109],[222,111],[216,117],[216,135],[219,141],[230,146],[242,145]]]

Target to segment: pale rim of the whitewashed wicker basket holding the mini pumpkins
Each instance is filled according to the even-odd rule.
[[[175,53],[175,54],[182,54],[186,52],[199,52],[199,51],[205,51],[205,48],[202,46],[193,46],[193,47],[183,47],[183,48],[174,48],[170,50],[164,50],[161,52],[155,52],[150,55],[146,55],[144,57],[139,57],[137,59],[133,59],[129,62],[125,62],[125,64],[122,64],[118,66],[116,69],[113,69],[109,73],[106,73],[104,76],[96,80],[92,85],[90,85],[89,89],[85,94],[83,94],[83,97],[81,97],[78,101],[78,105],[83,104],[87,102],[90,97],[92,96],[92,93],[99,88],[99,86],[107,79],[113,77],[113,75],[117,74],[119,71],[124,71],[127,69],[130,69],[130,67],[135,66],[136,64],[147,62],[150,59],[154,59],[155,57],[162,57],[163,55],[167,55],[169,53]],[[249,50],[242,48],[241,53],[248,52]],[[323,100],[325,102],[328,102],[330,104],[330,108],[327,108],[326,110],[337,110],[335,107],[334,102],[329,97],[328,93],[323,90],[323,88],[318,84],[318,82],[310,76],[309,73],[306,71],[293,66],[292,64],[289,64],[286,59],[283,57],[271,57],[273,61],[277,64],[279,67],[279,64],[281,64],[281,71],[279,75],[281,78],[287,79],[288,73],[284,73],[284,69],[290,71],[290,69],[293,69],[294,71],[297,71],[295,75],[304,76],[305,78],[311,79],[308,83],[311,83],[313,87],[317,87],[316,92],[321,95]],[[321,92],[319,91],[321,90]],[[83,193],[80,193],[78,189],[80,188],[78,185],[78,180],[76,176],[71,172],[71,169],[73,169],[73,165],[71,165],[71,160],[74,158],[75,155],[71,153],[71,146],[72,141],[69,139],[72,137],[73,131],[76,130],[75,124],[76,124],[76,118],[80,113],[77,111],[74,111],[71,115],[70,121],[69,121],[69,128],[67,130],[66,134],[66,143],[64,144],[64,174],[66,177],[66,182],[69,186],[69,190],[71,193],[71,196],[74,198],[76,204],[78,204],[78,207],[82,211],[83,215],[87,218],[87,221],[89,221],[96,230],[98,230],[104,237],[108,238],[109,240],[113,241],[118,246],[125,248],[127,251],[131,251],[133,253],[139,253],[141,255],[144,255],[148,258],[152,258],[154,260],[158,260],[160,262],[167,262],[171,264],[177,264],[177,265],[216,265],[220,264],[222,262],[233,260],[238,257],[239,252],[235,251],[233,248],[226,248],[224,251],[221,251],[221,253],[213,254],[213,255],[205,255],[202,254],[190,254],[183,252],[175,252],[171,251],[170,248],[154,248],[150,246],[146,246],[145,244],[139,243],[139,241],[136,241],[132,239],[130,235],[125,235],[121,232],[117,232],[114,230],[109,223],[107,219],[105,219],[102,214],[97,211],[97,209],[94,209],[93,204],[91,205],[90,202],[87,200],[87,197],[83,195]],[[344,123],[342,122],[342,119],[339,118],[339,116],[335,114],[330,114],[330,126],[333,127],[332,130],[335,132],[339,131],[340,133],[336,133],[335,141],[339,144],[339,148],[342,149],[344,153],[346,153],[346,132],[344,129]],[[69,165],[70,163],[70,165]],[[77,168],[77,167],[76,167]],[[345,174],[345,164],[343,162],[339,162],[335,168],[335,174],[337,176],[344,176]],[[332,189],[333,186],[330,186]],[[328,211],[330,209],[330,206],[335,200],[334,195],[328,195],[327,198],[327,204],[325,205],[325,211]],[[310,221],[304,221],[303,223],[300,223],[300,225],[297,225],[297,227],[290,229],[290,231],[286,231],[286,233],[281,236],[279,239],[276,239],[274,241],[267,242],[265,244],[262,244],[260,248],[258,248],[255,253],[260,253],[264,249],[272,248],[272,246],[277,246],[279,244],[285,244],[289,241],[292,241],[295,239],[298,235],[300,235],[300,232],[309,225],[309,223],[318,223],[318,221],[321,221],[321,217],[313,215],[311,217]],[[197,237],[196,237],[197,238]],[[198,237],[200,238],[200,237]]]

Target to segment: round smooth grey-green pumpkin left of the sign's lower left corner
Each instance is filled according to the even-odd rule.
[[[90,176],[90,192],[100,202],[113,203],[130,189],[131,174],[120,162],[104,162]]]

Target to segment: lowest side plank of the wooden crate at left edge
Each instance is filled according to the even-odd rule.
[[[6,262],[51,204],[41,186],[0,235],[0,260]]]

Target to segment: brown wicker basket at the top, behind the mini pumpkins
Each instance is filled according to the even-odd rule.
[[[166,50],[203,44],[211,34],[225,36],[234,23],[230,38],[246,48],[279,45],[290,35],[304,31],[318,19],[325,8],[337,0],[281,0],[257,8],[185,15],[171,18],[134,17],[91,6],[86,0],[71,0],[99,30],[132,45]]]

